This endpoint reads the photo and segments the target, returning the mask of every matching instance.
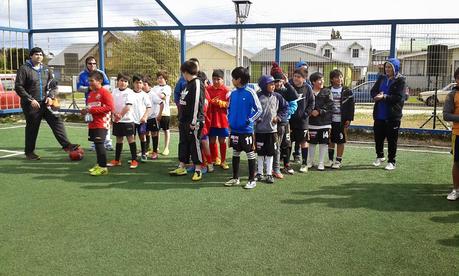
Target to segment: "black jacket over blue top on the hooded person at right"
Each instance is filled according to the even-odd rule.
[[[379,94],[380,92],[379,87],[381,86],[381,82],[387,81],[387,80],[388,79],[386,75],[379,76],[378,80],[371,88],[372,98],[374,98],[376,95]],[[405,87],[406,87],[405,77],[400,74],[397,74],[394,78],[394,81],[389,86],[388,94],[384,97],[384,99],[381,100],[381,101],[386,102],[388,106],[388,109],[389,109],[388,119],[391,121],[399,121],[400,119],[402,119],[403,104],[406,99]],[[376,119],[377,108],[381,101],[375,102],[375,105],[373,107],[373,119]]]

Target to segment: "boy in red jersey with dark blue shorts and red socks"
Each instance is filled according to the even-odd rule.
[[[217,69],[212,73],[212,86],[207,87],[211,99],[208,116],[210,117],[209,139],[212,160],[215,165],[227,170],[229,166],[226,163],[226,137],[229,136],[227,113],[230,92],[224,84],[223,77],[223,70]],[[220,144],[220,158],[218,157],[217,137]]]

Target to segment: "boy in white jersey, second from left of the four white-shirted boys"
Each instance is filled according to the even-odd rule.
[[[150,97],[143,89],[142,76],[134,74],[132,77],[134,100],[133,100],[133,116],[135,123],[135,132],[139,134],[141,156],[140,161],[147,161],[147,144],[145,134],[147,132],[147,120],[151,110]]]

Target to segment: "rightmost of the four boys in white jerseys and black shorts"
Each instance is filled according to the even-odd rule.
[[[163,155],[169,155],[169,141],[170,141],[170,130],[169,123],[171,118],[171,109],[169,102],[171,100],[172,89],[167,85],[168,73],[167,71],[158,71],[156,73],[156,81],[158,85],[153,87],[153,91],[161,98],[164,103],[162,112],[160,113],[161,120],[159,122],[159,129],[164,131],[164,150]]]

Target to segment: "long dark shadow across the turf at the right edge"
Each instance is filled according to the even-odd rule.
[[[295,192],[293,194],[301,198],[285,199],[281,203],[325,204],[331,208],[367,208],[387,212],[456,211],[457,206],[445,200],[446,192],[441,185],[430,183],[347,183],[321,186],[317,191]]]

